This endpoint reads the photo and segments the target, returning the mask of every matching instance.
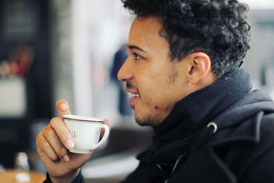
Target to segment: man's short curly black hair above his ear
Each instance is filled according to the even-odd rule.
[[[250,48],[249,7],[237,0],[121,1],[132,14],[160,20],[159,34],[169,42],[171,60],[203,51],[217,78],[240,66]]]

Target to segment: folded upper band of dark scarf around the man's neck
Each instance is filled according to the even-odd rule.
[[[153,144],[158,149],[182,140],[204,127],[225,108],[251,90],[249,73],[234,69],[210,86],[197,90],[175,104],[168,117],[154,127]]]

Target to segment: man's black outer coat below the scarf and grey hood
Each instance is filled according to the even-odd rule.
[[[151,178],[147,162],[149,151],[145,151],[138,156],[138,169],[125,182],[274,182],[273,113],[258,112],[236,126],[232,124],[211,134],[208,129],[200,132],[191,146],[193,149],[179,156],[173,173],[171,169],[163,171],[162,166],[154,166],[157,172],[154,175],[158,174],[158,179]],[[175,154],[176,151],[169,153]]]

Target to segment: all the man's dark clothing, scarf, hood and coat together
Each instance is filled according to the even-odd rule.
[[[274,103],[251,88],[235,69],[176,103],[124,182],[273,183]]]

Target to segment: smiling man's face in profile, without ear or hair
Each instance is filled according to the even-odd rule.
[[[159,35],[160,22],[136,18],[129,32],[129,57],[118,77],[132,93],[130,105],[140,125],[156,126],[169,115],[175,103],[189,94],[184,60],[171,61],[169,43]]]

